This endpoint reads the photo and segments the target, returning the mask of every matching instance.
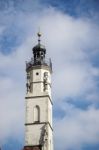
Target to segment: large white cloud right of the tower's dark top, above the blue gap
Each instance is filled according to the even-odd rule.
[[[53,60],[55,98],[94,92],[98,68],[92,65],[90,57],[95,53],[96,46],[99,49],[97,25],[54,10],[50,14],[47,11],[39,24],[45,33],[44,41]]]

